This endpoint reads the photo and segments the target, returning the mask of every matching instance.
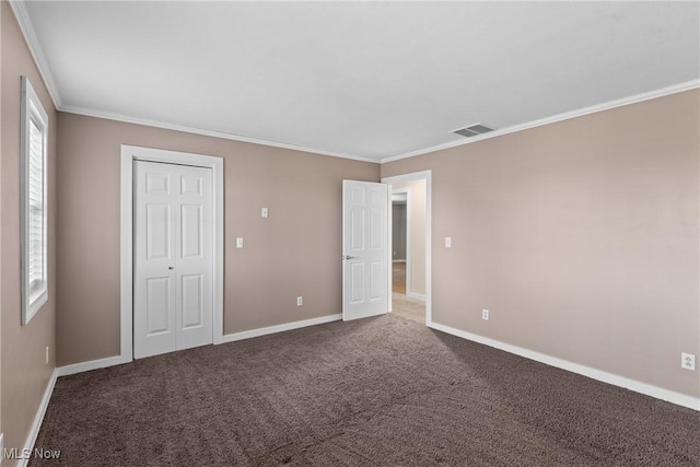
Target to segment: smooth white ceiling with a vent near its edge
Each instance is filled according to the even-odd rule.
[[[61,109],[370,160],[700,75],[696,1],[24,7]]]

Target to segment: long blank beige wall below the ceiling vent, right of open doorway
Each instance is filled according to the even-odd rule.
[[[383,164],[432,170],[433,319],[700,396],[699,114],[696,90]]]

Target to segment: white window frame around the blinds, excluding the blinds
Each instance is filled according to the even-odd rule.
[[[20,131],[20,165],[21,165],[21,255],[22,255],[22,324],[26,325],[48,302],[48,115],[34,92],[28,78],[22,77],[22,110]],[[40,183],[42,183],[42,278],[38,291],[32,290],[30,278],[30,234],[32,223],[32,205],[30,197],[31,182],[31,155],[32,138],[30,136],[32,124],[42,133],[40,155]]]

